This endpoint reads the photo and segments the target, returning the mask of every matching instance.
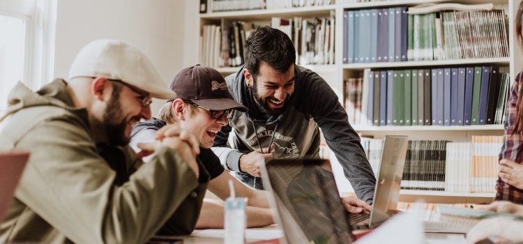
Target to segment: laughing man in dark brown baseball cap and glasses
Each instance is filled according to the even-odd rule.
[[[227,125],[233,109],[247,112],[247,108],[232,100],[222,75],[207,66],[195,65],[184,68],[172,79],[169,89],[176,92],[176,99],[167,101],[160,109],[158,119],[132,126],[130,145],[140,151],[137,144],[153,142],[156,131],[165,125],[177,124],[195,134],[200,146],[198,158],[211,175],[209,190],[220,199],[229,197],[227,182],[233,181],[237,197],[246,197],[247,227],[263,227],[273,224],[273,218],[265,192],[252,190],[231,176],[220,163],[210,147],[216,132]],[[149,156],[144,158],[148,161]],[[197,229],[224,227],[224,202],[204,199]]]

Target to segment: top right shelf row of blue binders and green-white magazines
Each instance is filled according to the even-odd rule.
[[[407,14],[407,7],[344,10],[343,63],[508,56],[503,10]]]

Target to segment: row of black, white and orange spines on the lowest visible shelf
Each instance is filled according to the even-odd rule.
[[[383,139],[361,138],[377,176]],[[409,140],[401,188],[447,192],[494,192],[503,137],[473,136],[472,142]]]

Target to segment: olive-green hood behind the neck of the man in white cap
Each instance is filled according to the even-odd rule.
[[[0,121],[21,109],[37,106],[61,107],[87,121],[86,109],[74,107],[73,100],[67,92],[67,85],[67,82],[63,79],[54,79],[53,82],[43,86],[39,91],[33,92],[22,82],[17,82],[8,94],[8,107],[6,113],[0,116]]]

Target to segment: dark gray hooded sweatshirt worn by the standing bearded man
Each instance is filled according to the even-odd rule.
[[[261,178],[240,171],[238,162],[241,155],[260,147],[266,148],[273,142],[275,158],[318,157],[321,129],[356,196],[372,203],[376,178],[365,157],[360,137],[349,124],[347,112],[331,86],[317,73],[295,66],[294,93],[285,105],[285,112],[269,116],[253,100],[241,70],[225,80],[232,98],[248,107],[249,112],[234,112],[229,125],[218,132],[213,151],[220,157],[222,165],[252,188],[262,189]],[[229,145],[232,130],[233,145]]]

